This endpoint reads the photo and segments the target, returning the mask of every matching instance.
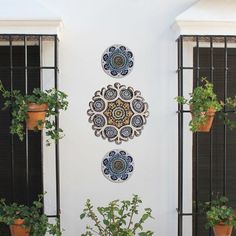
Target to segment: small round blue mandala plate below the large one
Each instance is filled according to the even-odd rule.
[[[124,182],[130,178],[133,170],[133,158],[123,150],[112,150],[102,160],[102,173],[112,182]]]

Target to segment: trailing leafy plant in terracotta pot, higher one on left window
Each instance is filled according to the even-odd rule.
[[[29,130],[46,128],[47,145],[50,140],[63,137],[63,130],[56,128],[55,116],[68,107],[67,95],[56,89],[42,91],[35,88],[30,95],[23,95],[19,90],[7,91],[0,81],[0,92],[5,99],[3,109],[10,108],[12,120],[10,132],[18,135],[22,141],[25,135],[25,122]],[[37,115],[39,115],[37,117]]]

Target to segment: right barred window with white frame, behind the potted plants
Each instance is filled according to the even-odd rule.
[[[236,95],[236,37],[181,36],[178,52],[179,95],[187,96],[201,77],[214,84],[220,100]],[[198,202],[209,201],[212,192],[220,192],[236,207],[236,130],[229,130],[216,117],[210,133],[192,134],[189,108],[179,106],[178,116],[178,236],[213,235],[204,227]]]

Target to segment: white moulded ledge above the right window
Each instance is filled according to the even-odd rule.
[[[236,35],[236,1],[200,0],[175,18],[177,35]]]

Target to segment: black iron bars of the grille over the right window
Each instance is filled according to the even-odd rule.
[[[224,49],[224,84],[227,84],[228,79],[228,62],[227,62],[227,55],[228,55],[228,41],[230,39],[236,41],[236,36],[232,35],[180,35],[177,39],[177,50],[178,50],[178,96],[183,96],[183,86],[184,86],[184,72],[186,70],[192,70],[195,74],[196,80],[199,83],[200,80],[200,61],[199,61],[199,49],[200,49],[200,39],[202,38],[209,38],[209,48],[211,50],[210,55],[210,80],[213,80],[213,41],[214,39],[223,39],[223,49]],[[196,59],[196,65],[192,66],[185,66],[184,65],[184,40],[186,38],[193,38],[196,42],[195,49],[197,54]],[[236,44],[235,44],[236,45]],[[192,58],[193,60],[193,58]],[[227,86],[225,86],[224,89],[224,99],[227,97]],[[224,110],[224,112],[226,112]],[[182,104],[178,104],[178,207],[177,207],[177,214],[178,214],[178,236],[184,235],[184,217],[194,217],[198,214],[198,206],[196,206],[196,209],[192,209],[192,212],[186,212],[184,209],[184,129],[185,123],[184,123],[184,115],[187,113],[190,113],[189,109],[186,109]],[[194,134],[197,135],[197,134]],[[226,128],[224,127],[224,138],[226,137]],[[212,154],[211,154],[212,155]],[[210,165],[212,165],[212,156],[210,158]],[[197,168],[197,167],[196,167]],[[223,173],[223,194],[226,193],[226,154],[224,155],[224,173]],[[211,169],[212,171],[212,169]],[[197,178],[196,178],[197,179]],[[197,180],[196,180],[197,181]],[[212,180],[211,180],[212,181]],[[197,184],[197,183],[195,183]],[[209,190],[209,193],[211,193],[211,189]],[[193,193],[196,194],[196,193]],[[209,198],[211,199],[211,194],[209,195]],[[196,199],[197,202],[197,199]],[[197,204],[196,204],[197,205]],[[192,235],[197,236],[195,230],[193,230]],[[209,231],[209,235],[211,235],[211,231]]]

